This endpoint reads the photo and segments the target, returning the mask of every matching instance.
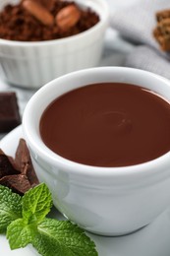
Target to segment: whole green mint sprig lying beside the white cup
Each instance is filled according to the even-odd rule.
[[[0,186],[0,204],[6,209],[0,206],[0,230],[7,229],[11,249],[31,243],[42,256],[98,255],[94,242],[77,224],[46,218],[52,197],[44,183],[29,189],[23,198]]]

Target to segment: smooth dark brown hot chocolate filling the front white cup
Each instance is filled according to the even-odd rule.
[[[135,85],[87,85],[52,101],[39,130],[44,144],[65,159],[138,164],[170,151],[170,103]]]

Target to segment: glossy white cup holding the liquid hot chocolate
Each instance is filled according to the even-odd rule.
[[[39,135],[41,114],[54,98],[102,82],[139,85],[170,100],[170,82],[164,78],[131,68],[92,68],[41,88],[28,101],[23,128],[37,176],[61,213],[91,232],[120,235],[149,224],[169,206],[170,152],[132,166],[88,166],[56,155]]]

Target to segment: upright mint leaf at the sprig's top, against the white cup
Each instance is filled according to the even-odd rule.
[[[50,212],[52,197],[48,187],[41,183],[29,189],[22,199],[23,218],[28,223],[40,223]]]

